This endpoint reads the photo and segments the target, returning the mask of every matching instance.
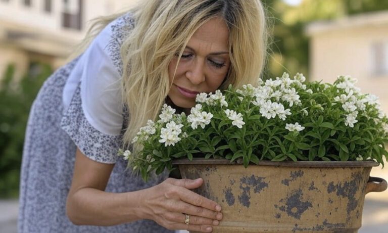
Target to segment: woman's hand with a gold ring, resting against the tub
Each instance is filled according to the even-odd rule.
[[[146,192],[142,202],[145,217],[167,229],[211,232],[212,225],[218,225],[222,219],[221,206],[190,191],[200,187],[202,183],[202,178],[168,178],[155,187],[144,190]],[[189,224],[185,224],[186,214],[189,215]]]

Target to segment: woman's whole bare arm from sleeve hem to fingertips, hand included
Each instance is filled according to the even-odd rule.
[[[74,174],[66,211],[77,225],[116,225],[151,219],[168,229],[210,232],[222,218],[221,207],[189,189],[203,180],[172,179],[145,190],[128,193],[105,192],[113,164],[95,162],[77,149]],[[185,215],[190,224],[184,224]],[[210,228],[209,228],[210,227]]]

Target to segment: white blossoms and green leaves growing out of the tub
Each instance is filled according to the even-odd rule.
[[[172,160],[201,156],[260,160],[349,161],[388,158],[388,118],[377,97],[362,95],[355,79],[304,83],[284,73],[257,87],[199,94],[188,116],[165,105],[134,138],[134,155],[121,152],[133,170],[172,169]]]

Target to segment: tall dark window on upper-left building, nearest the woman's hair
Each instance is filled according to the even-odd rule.
[[[82,29],[83,0],[63,0],[62,26]]]

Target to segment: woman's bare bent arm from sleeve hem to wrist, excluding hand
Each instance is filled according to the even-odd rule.
[[[66,212],[76,225],[116,225],[141,218],[139,192],[105,192],[114,164],[95,162],[77,148]]]

